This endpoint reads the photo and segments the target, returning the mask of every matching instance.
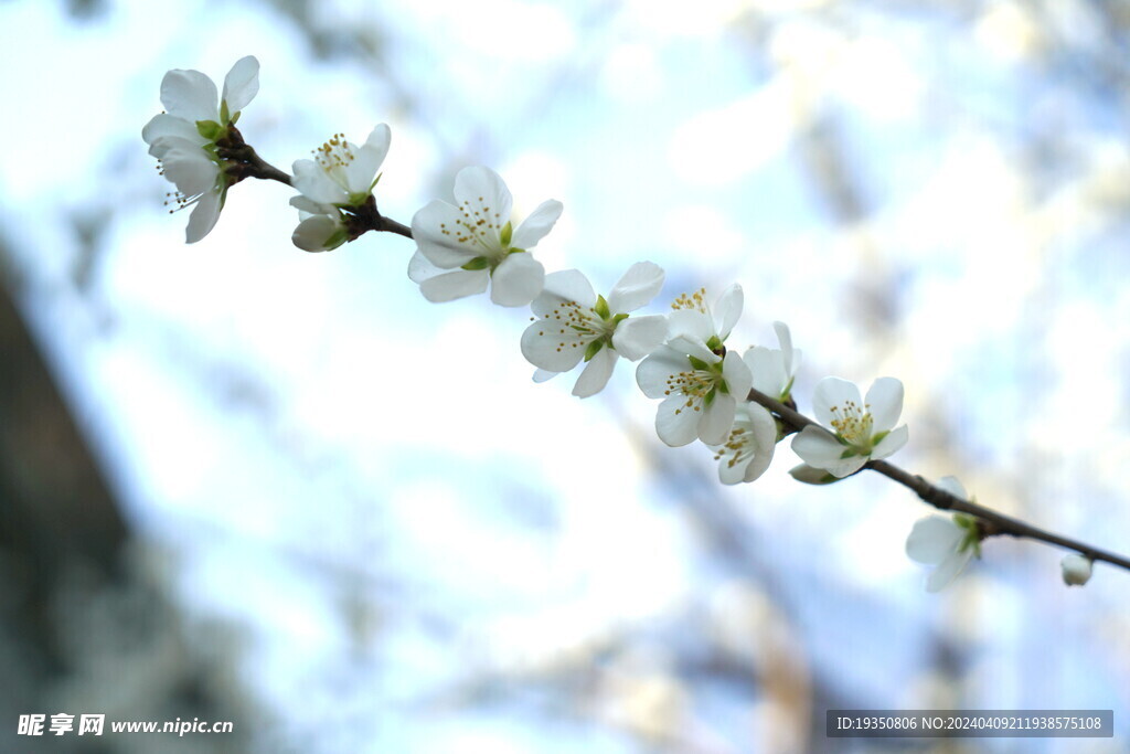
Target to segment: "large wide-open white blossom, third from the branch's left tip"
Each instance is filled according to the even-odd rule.
[[[408,277],[433,302],[483,293],[489,285],[496,304],[529,304],[545,283],[545,268],[529,251],[553,229],[562,203],[541,202],[514,228],[510,189],[488,167],[461,170],[454,194],[455,206],[433,200],[412,216],[417,249]]]

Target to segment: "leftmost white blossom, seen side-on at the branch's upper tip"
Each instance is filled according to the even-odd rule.
[[[227,193],[227,179],[216,141],[223,139],[259,92],[259,61],[240,59],[224,79],[217,99],[216,84],[195,70],[173,69],[160,83],[165,112],[141,130],[149,154],[162,174],[176,185],[166,203],[176,209],[193,207],[185,240],[195,243],[216,226]]]

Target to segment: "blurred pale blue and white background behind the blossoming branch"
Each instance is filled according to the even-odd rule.
[[[1130,5],[1057,0],[0,3],[0,748],[1123,752],[1130,573],[1012,540],[940,595],[930,511],[782,444],[727,488],[608,389],[530,381],[528,312],[432,305],[412,244],[289,241],[277,183],[186,215],[141,127],[221,83],[289,168],[392,128],[409,222],[502,173],[538,246],[651,311],[737,280],[731,345],[906,384],[894,460],[1130,551]],[[1113,739],[827,739],[825,711],[1113,709]],[[19,714],[232,720],[17,737]],[[49,718],[50,720],[50,718]],[[1018,747],[1023,743],[1023,747]]]

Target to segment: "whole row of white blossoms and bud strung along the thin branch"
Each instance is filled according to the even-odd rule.
[[[640,362],[640,389],[661,401],[659,437],[672,448],[702,442],[714,453],[723,484],[757,479],[777,443],[798,428],[779,418],[781,406],[796,406],[792,390],[801,361],[788,326],[774,323],[776,348],[751,346],[739,354],[727,347],[742,311],[739,285],[724,289],[713,306],[702,288],[679,295],[667,313],[637,315],[663,286],[658,265],[632,265],[607,296],[598,295],[577,270],[546,275],[532,250],[560,217],[562,203],[541,202],[515,227],[511,192],[487,167],[460,171],[454,205],[429,202],[415,214],[410,231],[390,225],[373,196],[391,142],[389,127],[376,125],[360,146],[334,135],[313,150],[313,159],[294,163],[292,179],[262,163],[235,128],[258,89],[259,63],[251,57],[232,68],[218,104],[216,85],[199,71],[172,70],[162,81],[166,112],[149,121],[142,137],[164,176],[176,185],[171,201],[180,208],[195,206],[189,243],[215,226],[233,183],[252,175],[281,180],[298,191],[290,205],[299,213],[293,234],[299,249],[330,251],[367,231],[392,229],[415,241],[408,277],[428,301],[489,288],[498,305],[530,306],[521,350],[537,367],[536,382],[584,362],[573,395],[588,398],[608,384],[620,356]],[[755,398],[777,404],[779,416]],[[809,423],[793,437],[792,450],[803,462],[790,474],[808,484],[832,484],[892,456],[909,437],[905,425],[896,426],[902,408],[903,384],[894,378],[876,380],[866,398],[846,380],[820,380],[812,396],[819,425]],[[954,477],[938,487],[968,501]],[[931,515],[914,526],[906,553],[933,566],[927,589],[938,591],[980,556],[984,537],[972,515]],[[1062,567],[1069,584],[1085,583],[1090,575],[1090,561],[1081,555],[1069,555]]]

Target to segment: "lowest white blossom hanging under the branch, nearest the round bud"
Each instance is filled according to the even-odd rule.
[[[942,477],[938,486],[960,500],[968,500],[956,477]],[[927,578],[927,591],[940,591],[956,579],[970,560],[981,555],[981,534],[976,519],[963,513],[953,518],[930,515],[914,523],[906,538],[906,554],[924,565],[935,566]]]

